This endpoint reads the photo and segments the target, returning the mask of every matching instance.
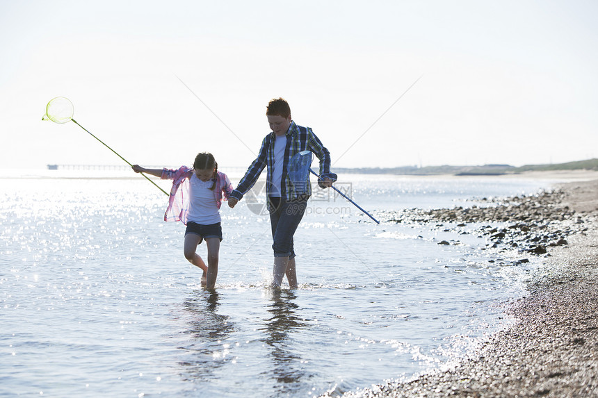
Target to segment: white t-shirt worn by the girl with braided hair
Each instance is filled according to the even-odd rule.
[[[210,189],[213,181],[202,181],[195,173],[189,179],[189,210],[187,222],[209,225],[220,222],[220,212],[216,206],[214,191]]]

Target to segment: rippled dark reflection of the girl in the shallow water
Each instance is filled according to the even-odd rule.
[[[179,363],[184,367],[186,377],[193,381],[217,379],[213,372],[232,359],[225,340],[235,330],[227,315],[218,313],[220,294],[198,290],[193,297],[183,301],[188,315],[188,344],[179,347],[186,351],[186,360]]]

